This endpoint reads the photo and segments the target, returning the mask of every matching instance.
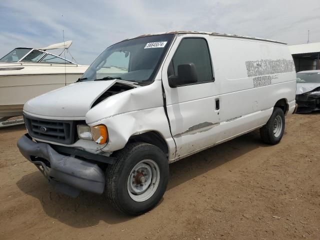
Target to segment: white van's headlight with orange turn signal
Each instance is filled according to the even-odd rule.
[[[78,137],[85,140],[94,140],[98,144],[103,144],[108,139],[108,131],[105,125],[87,126],[77,125]]]

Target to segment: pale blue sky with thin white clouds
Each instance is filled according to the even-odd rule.
[[[151,32],[196,30],[288,44],[320,41],[320,0],[1,0],[0,57],[15,47],[72,40],[79,64]]]

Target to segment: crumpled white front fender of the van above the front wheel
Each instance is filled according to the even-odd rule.
[[[156,131],[168,145],[169,158],[174,154],[175,144],[164,112],[160,80],[105,99],[90,109],[85,119],[90,126],[107,126],[108,144],[103,151],[123,148],[131,135]]]

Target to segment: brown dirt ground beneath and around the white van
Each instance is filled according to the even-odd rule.
[[[102,196],[54,192],[22,157],[22,125],[0,129],[0,239],[320,239],[320,113],[286,118],[170,164],[161,202],[128,217]]]

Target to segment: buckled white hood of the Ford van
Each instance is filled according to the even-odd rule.
[[[92,104],[116,82],[134,87],[131,82],[117,79],[75,82],[28,100],[23,112],[48,119],[85,119]]]

